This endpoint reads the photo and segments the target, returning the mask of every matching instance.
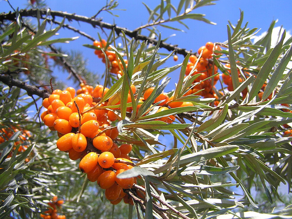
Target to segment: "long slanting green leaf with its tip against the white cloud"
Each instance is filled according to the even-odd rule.
[[[267,80],[272,68],[274,67],[276,61],[278,60],[285,35],[286,32],[284,31],[281,40],[272,50],[271,54],[269,55],[264,65],[262,66],[261,70],[257,74],[256,79],[254,80],[254,84],[251,87],[251,91],[249,92],[249,101],[251,101],[257,95],[259,90],[262,88],[264,82]]]

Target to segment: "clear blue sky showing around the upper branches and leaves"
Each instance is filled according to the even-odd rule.
[[[10,0],[9,1],[14,8],[19,7],[25,8],[29,1],[25,0]],[[99,17],[104,22],[115,23],[118,26],[126,27],[129,30],[134,30],[140,25],[146,24],[148,20],[148,12],[143,6],[140,0],[120,0],[119,9],[113,11],[114,14],[119,17],[114,17],[107,12],[102,12]],[[151,9],[159,4],[160,1],[145,0],[144,1]],[[172,4],[177,7],[179,1],[171,1]],[[235,24],[239,19],[240,10],[244,12],[243,23],[249,22],[249,28],[261,28],[262,33],[266,31],[272,22],[272,20],[278,19],[278,23],[275,26],[283,25],[287,31],[292,30],[292,4],[289,0],[219,0],[214,1],[216,4],[196,9],[194,13],[205,14],[206,18],[211,20],[217,25],[207,24],[201,21],[185,20],[189,26],[189,30],[182,25],[172,22],[168,25],[173,25],[176,28],[182,28],[185,33],[180,31],[174,31],[165,28],[159,28],[162,33],[162,39],[175,34],[167,40],[168,43],[178,44],[178,47],[186,48],[188,50],[197,51],[199,47],[204,45],[207,41],[212,42],[223,42],[227,39],[227,28],[228,20]],[[105,0],[50,0],[46,1],[52,10],[67,11],[69,13],[76,13],[78,15],[92,16],[102,6],[105,5]],[[8,12],[10,9],[7,1],[0,0],[0,12]],[[101,33],[100,29],[93,29],[91,25],[85,23],[72,23],[72,26],[80,28],[80,30],[90,34],[91,36],[98,38],[97,32]],[[76,33],[68,30],[61,30],[59,37],[72,37],[77,36]],[[144,31],[144,34],[148,35],[148,31]],[[101,35],[102,36],[102,35]],[[69,43],[63,44],[62,46],[67,49],[76,49],[83,52],[83,55],[88,59],[88,68],[96,73],[103,73],[104,64],[98,60],[93,54],[92,49],[85,48],[83,44],[91,44],[92,42],[87,38],[80,37],[79,39]],[[160,49],[160,52],[167,52],[165,49]],[[183,57],[179,56],[179,61],[182,61]],[[170,62],[168,65],[174,65],[177,63]],[[175,77],[178,73],[173,73],[171,76]],[[174,78],[170,83],[174,84],[176,79]]]

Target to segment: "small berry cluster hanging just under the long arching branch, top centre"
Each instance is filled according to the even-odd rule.
[[[104,49],[105,54],[107,55],[108,60],[108,68],[110,68],[110,72],[118,75],[123,75],[123,65],[119,57],[117,57],[114,51],[111,51],[111,47],[105,48],[107,46],[107,41],[102,39],[101,41],[94,41],[93,46],[99,47]],[[102,58],[102,62],[106,63],[104,53],[100,49],[96,49],[94,54],[97,55],[99,58]],[[128,60],[124,59],[126,67],[128,65]]]

